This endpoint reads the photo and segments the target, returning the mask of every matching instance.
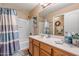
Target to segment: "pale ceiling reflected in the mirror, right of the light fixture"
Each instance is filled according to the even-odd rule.
[[[49,13],[55,12],[61,8],[67,7],[69,5],[72,5],[72,3],[54,3],[50,6],[46,7],[41,13],[40,16],[46,17]]]

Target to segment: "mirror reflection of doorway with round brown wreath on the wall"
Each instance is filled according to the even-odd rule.
[[[64,15],[56,16],[53,19],[54,22],[54,35],[64,35]]]

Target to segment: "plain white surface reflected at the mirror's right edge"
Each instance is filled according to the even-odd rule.
[[[64,31],[79,33],[79,9],[64,14]]]

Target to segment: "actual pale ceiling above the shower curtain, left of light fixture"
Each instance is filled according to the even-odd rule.
[[[30,12],[38,3],[0,3],[0,7],[25,10]]]

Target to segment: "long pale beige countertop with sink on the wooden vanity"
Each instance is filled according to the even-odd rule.
[[[63,40],[64,40],[63,37],[52,36],[50,38],[45,38],[39,35],[35,35],[35,36],[30,36],[30,38],[36,39],[38,41],[44,42],[46,44],[49,44],[51,46],[57,47],[59,49],[62,49],[64,51],[67,51],[79,56],[79,47],[76,47],[74,45],[70,45],[67,43],[63,43]],[[62,44],[57,44],[56,42],[61,42]]]

